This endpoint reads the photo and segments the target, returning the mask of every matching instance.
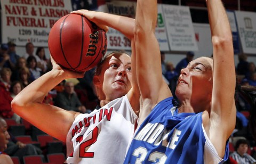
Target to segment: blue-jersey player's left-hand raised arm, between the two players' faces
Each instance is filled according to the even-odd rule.
[[[138,0],[134,38],[137,80],[143,102],[141,112],[145,112],[141,117],[146,117],[156,103],[172,96],[162,78],[160,50],[155,37],[156,23],[157,1]]]

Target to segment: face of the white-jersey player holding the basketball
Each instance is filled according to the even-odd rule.
[[[131,57],[127,54],[111,55],[102,65],[100,81],[106,100],[124,96],[131,89]]]

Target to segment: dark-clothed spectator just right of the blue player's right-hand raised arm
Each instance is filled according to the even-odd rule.
[[[238,64],[236,66],[236,73],[237,75],[246,75],[249,71],[248,66],[249,62],[247,62],[247,55],[246,54],[239,54],[238,55]]]

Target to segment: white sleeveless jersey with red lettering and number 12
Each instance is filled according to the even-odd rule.
[[[137,115],[127,95],[79,114],[67,135],[67,163],[123,163]]]

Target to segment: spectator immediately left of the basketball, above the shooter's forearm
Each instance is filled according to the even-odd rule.
[[[46,59],[44,47],[38,47],[36,50],[36,61],[38,68],[42,69],[42,72],[46,72],[49,60]]]

